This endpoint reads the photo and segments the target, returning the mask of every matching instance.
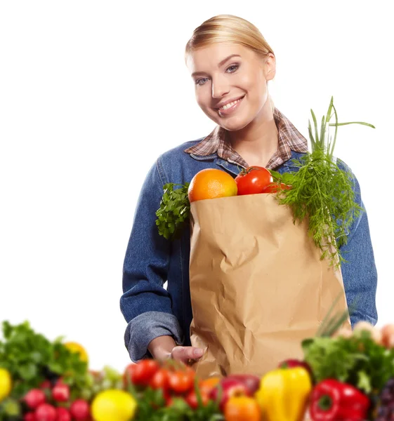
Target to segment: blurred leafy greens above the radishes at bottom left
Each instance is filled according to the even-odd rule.
[[[51,342],[34,332],[25,321],[19,325],[3,322],[4,340],[0,340],[0,367],[13,377],[11,397],[19,399],[46,379],[64,377],[72,395],[86,386],[87,363],[70,352],[58,338]]]

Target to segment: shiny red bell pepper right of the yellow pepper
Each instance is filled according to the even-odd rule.
[[[369,404],[368,396],[352,385],[327,379],[312,391],[310,417],[313,421],[363,421]]]

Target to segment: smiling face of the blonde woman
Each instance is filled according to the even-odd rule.
[[[217,43],[193,51],[187,63],[199,107],[219,126],[237,131],[272,116],[267,87],[275,76],[272,53],[261,58],[239,44]]]

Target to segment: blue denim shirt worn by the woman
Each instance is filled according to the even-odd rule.
[[[162,335],[172,336],[178,345],[190,345],[190,227],[185,226],[180,239],[169,241],[159,236],[155,221],[166,183],[185,184],[204,168],[218,168],[233,177],[239,173],[236,164],[221,159],[216,153],[197,156],[184,152],[202,139],[185,142],[159,156],[138,198],[124,258],[120,299],[120,308],[128,323],[124,341],[132,361],[150,356],[147,345]],[[292,152],[291,159],[275,171],[297,171],[291,160],[302,155]],[[350,171],[345,163],[339,163]],[[354,175],[353,178],[357,203],[363,206],[360,186]],[[346,253],[348,262],[342,264],[341,271],[348,305],[357,295],[357,309],[350,321],[352,326],[360,320],[376,324],[377,274],[366,212],[353,222],[347,235],[348,242],[341,251]],[[163,288],[165,281],[168,281],[167,289]]]

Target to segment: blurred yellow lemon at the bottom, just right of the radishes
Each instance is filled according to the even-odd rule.
[[[94,421],[129,421],[134,417],[136,409],[136,399],[119,389],[100,392],[91,404]]]

